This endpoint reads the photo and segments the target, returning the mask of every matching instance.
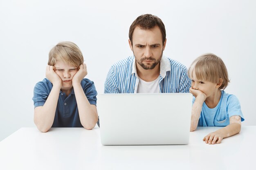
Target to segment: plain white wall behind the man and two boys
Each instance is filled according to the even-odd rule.
[[[0,140],[34,127],[33,88],[45,77],[49,50],[72,41],[83,52],[98,93],[110,66],[131,55],[128,30],[137,16],[166,26],[164,55],[187,67],[202,53],[225,62],[240,100],[243,125],[256,125],[256,1],[254,0],[0,0]]]

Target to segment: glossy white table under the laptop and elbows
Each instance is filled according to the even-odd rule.
[[[256,169],[256,126],[221,144],[202,139],[218,127],[190,132],[189,145],[102,146],[99,128],[20,128],[0,142],[1,170],[238,170]]]

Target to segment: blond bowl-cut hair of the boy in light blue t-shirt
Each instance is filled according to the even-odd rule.
[[[213,83],[221,83],[220,78],[223,80],[220,90],[224,90],[229,84],[229,75],[227,68],[220,57],[212,53],[201,55],[195,59],[189,67],[189,78],[195,73],[197,79]]]

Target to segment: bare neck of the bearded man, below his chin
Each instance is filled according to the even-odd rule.
[[[158,63],[153,69],[144,69],[136,62],[137,75],[140,79],[143,79],[145,82],[152,82],[160,74],[160,63]]]

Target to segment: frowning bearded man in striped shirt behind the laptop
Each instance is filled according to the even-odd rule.
[[[130,26],[129,45],[133,55],[111,66],[104,93],[189,93],[186,67],[162,56],[166,31],[161,19],[140,15]]]

